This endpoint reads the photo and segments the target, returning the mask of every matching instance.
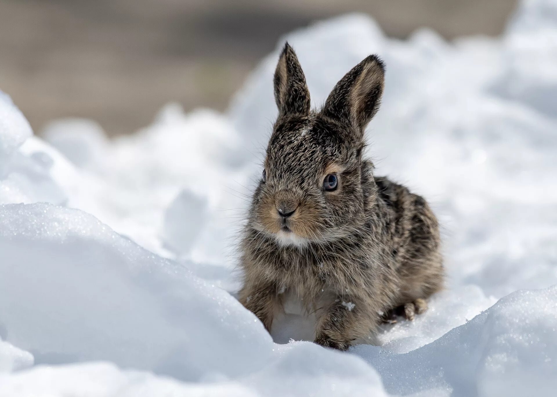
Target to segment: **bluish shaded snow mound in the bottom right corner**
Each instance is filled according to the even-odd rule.
[[[431,344],[405,354],[356,346],[391,394],[551,395],[557,373],[557,286],[517,291]],[[452,394],[451,394],[452,393]]]

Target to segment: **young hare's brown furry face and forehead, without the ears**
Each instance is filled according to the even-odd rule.
[[[252,225],[283,245],[327,242],[364,216],[361,146],[320,115],[280,118],[267,147]]]

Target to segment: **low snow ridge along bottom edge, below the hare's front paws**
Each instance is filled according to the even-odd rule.
[[[278,349],[277,349],[278,350]],[[221,377],[184,383],[165,376],[121,370],[110,363],[36,366],[0,373],[2,396],[269,396],[350,395],[387,396],[377,373],[363,360],[325,351],[316,345],[293,345],[261,371],[238,380]]]

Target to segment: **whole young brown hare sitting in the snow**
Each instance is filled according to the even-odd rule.
[[[273,83],[278,117],[242,231],[239,299],[270,330],[290,292],[317,315],[315,343],[346,350],[394,314],[412,320],[442,289],[438,222],[363,158],[379,57],[346,73],[319,111],[288,43]]]

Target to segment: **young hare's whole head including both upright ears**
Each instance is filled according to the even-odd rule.
[[[282,245],[328,242],[364,220],[364,128],[379,108],[384,66],[365,58],[336,84],[319,112],[294,50],[275,71],[278,118],[268,143],[250,226]]]

